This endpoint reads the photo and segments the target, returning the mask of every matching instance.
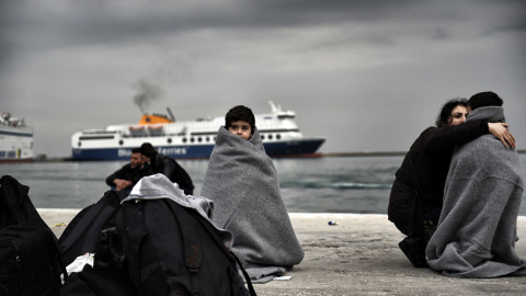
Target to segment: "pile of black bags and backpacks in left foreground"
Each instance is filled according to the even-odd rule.
[[[1,179],[0,296],[255,295],[217,228],[193,208],[107,191],[57,241],[27,192]],[[85,254],[93,264],[68,276],[65,266]]]

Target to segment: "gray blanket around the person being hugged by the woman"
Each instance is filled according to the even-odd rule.
[[[467,121],[503,122],[502,107],[474,110]],[[515,252],[523,175],[515,149],[492,135],[481,136],[453,155],[438,228],[426,249],[427,263],[444,275],[498,277],[526,275]]]

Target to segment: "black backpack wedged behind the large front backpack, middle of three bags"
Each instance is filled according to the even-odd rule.
[[[72,272],[60,296],[136,296],[115,230],[115,214],[126,193],[107,191],[99,202],[77,214],[60,236],[62,259],[70,264],[85,252],[94,253],[93,267]]]

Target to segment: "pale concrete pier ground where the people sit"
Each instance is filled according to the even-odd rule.
[[[59,237],[78,209],[38,212]],[[305,259],[286,273],[290,280],[254,285],[258,295],[526,295],[526,276],[462,280],[414,269],[398,248],[403,236],[386,215],[293,213],[290,218]],[[517,231],[516,249],[526,259],[526,217],[518,217]]]

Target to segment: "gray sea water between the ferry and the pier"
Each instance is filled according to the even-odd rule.
[[[274,159],[282,198],[290,213],[386,214],[395,172],[403,157],[321,157]],[[519,155],[526,175],[526,155]],[[201,194],[208,160],[178,160]],[[95,203],[110,187],[107,175],[125,161],[30,162],[0,164],[9,174],[30,186],[36,207],[83,208]],[[523,195],[523,200],[524,200]],[[519,214],[526,216],[523,202]]]

